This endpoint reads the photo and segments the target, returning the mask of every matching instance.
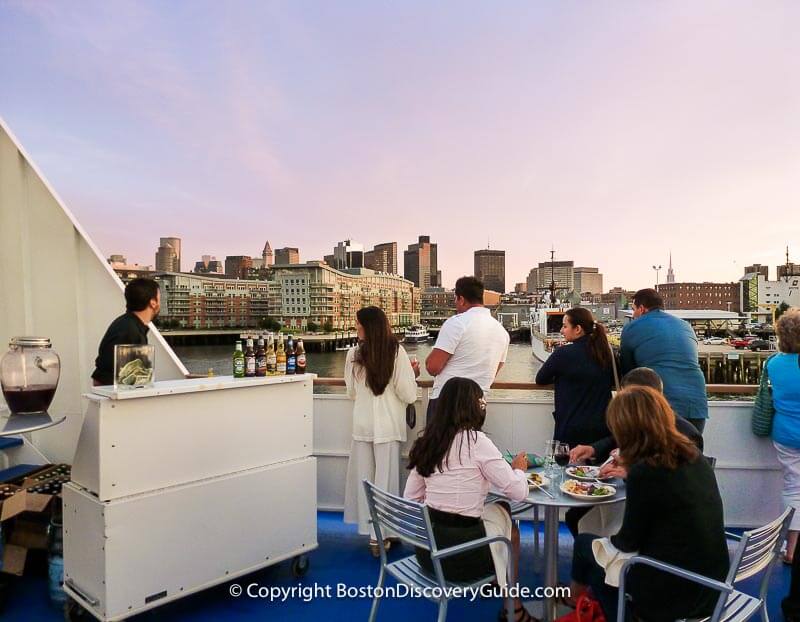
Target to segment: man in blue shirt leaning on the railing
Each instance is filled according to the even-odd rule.
[[[702,434],[708,419],[706,380],[697,356],[697,337],[688,322],[664,311],[654,289],[633,296],[633,321],[622,329],[622,371],[649,367],[664,383],[664,397],[675,413]]]

